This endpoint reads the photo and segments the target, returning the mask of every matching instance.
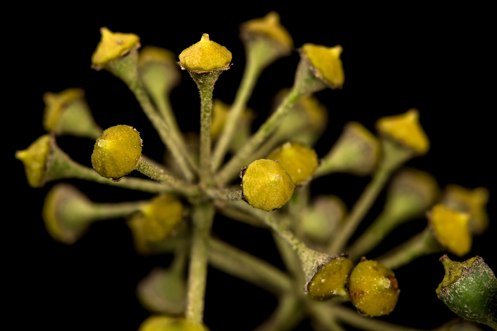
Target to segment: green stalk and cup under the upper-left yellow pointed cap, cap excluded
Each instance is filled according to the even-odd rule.
[[[176,140],[172,138],[170,128],[166,125],[166,122],[164,122],[161,115],[150,101],[145,88],[138,78],[137,59],[138,51],[137,49],[134,49],[130,51],[128,55],[108,64],[105,69],[124,81],[131,92],[133,92],[138,103],[142,107],[143,112],[147,115],[149,121],[152,122],[152,125],[159,133],[161,140],[176,159],[185,179],[191,181],[193,180],[194,175],[186,162],[186,149],[181,150]]]

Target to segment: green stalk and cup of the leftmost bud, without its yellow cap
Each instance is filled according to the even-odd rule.
[[[177,192],[169,185],[148,181],[141,178],[125,177],[119,182],[101,177],[94,169],[75,162],[69,155],[57,146],[55,139],[51,141],[51,151],[47,159],[47,171],[44,183],[63,178],[78,178],[100,184],[118,186],[125,189],[149,193]]]

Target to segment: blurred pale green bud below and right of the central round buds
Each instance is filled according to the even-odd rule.
[[[312,207],[304,211],[300,230],[312,241],[327,243],[345,218],[346,212],[347,206],[337,196],[318,196]]]

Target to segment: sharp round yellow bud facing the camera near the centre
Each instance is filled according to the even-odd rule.
[[[288,173],[273,160],[255,160],[242,175],[246,201],[262,210],[281,208],[292,198],[295,186]]]

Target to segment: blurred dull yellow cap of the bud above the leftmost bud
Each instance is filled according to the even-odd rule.
[[[43,94],[43,102],[45,102],[43,128],[45,131],[52,132],[59,123],[63,109],[71,101],[82,98],[83,95],[82,88],[68,88],[59,93],[45,92]]]

